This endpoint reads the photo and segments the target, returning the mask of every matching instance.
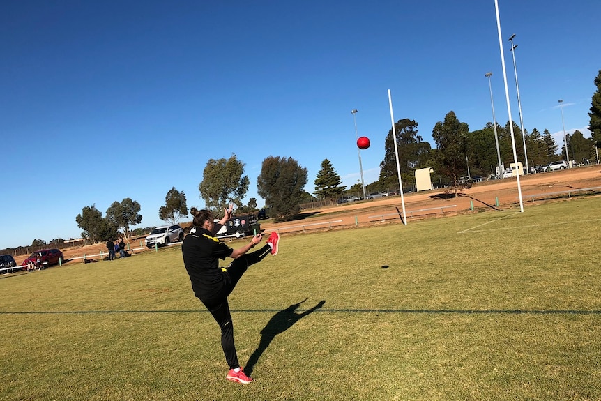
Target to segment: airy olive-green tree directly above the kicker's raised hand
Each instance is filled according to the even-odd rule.
[[[242,206],[250,180],[244,174],[244,163],[232,153],[229,159],[209,159],[198,186],[207,209],[221,213],[230,203]]]

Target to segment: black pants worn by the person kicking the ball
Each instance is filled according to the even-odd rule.
[[[236,346],[234,345],[234,325],[231,322],[227,296],[234,291],[238,280],[242,278],[249,266],[260,262],[270,252],[271,247],[265,245],[259,250],[234,259],[234,262],[231,262],[226,271],[223,272],[224,286],[221,291],[215,296],[211,296],[211,298],[201,299],[221,328],[221,347],[230,369],[240,368],[240,363],[238,363],[238,354],[236,354]]]

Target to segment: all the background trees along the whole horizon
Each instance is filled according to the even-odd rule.
[[[558,146],[549,130],[545,129],[542,133],[537,128],[533,128],[531,132],[524,130],[528,165],[547,165],[558,158],[577,161],[593,158],[594,147],[601,147],[601,70],[595,77],[594,84],[597,90],[593,94],[588,113],[592,138],[584,138],[578,130],[568,135],[566,155],[565,146]],[[433,181],[451,186],[457,195],[462,182],[460,178],[468,174],[468,171],[472,176],[496,174],[498,155],[495,131],[501,162],[504,165],[513,162],[511,128],[517,159],[524,162],[524,147],[519,146],[523,143],[522,130],[514,121],[508,121],[505,126],[487,123],[480,130],[470,131],[467,123],[459,121],[455,112],[450,111],[444,120],[436,123],[432,129],[432,138],[436,144],[433,148],[419,135],[418,123],[415,120],[400,119],[395,123],[396,142],[392,129],[384,139],[385,155],[380,163],[379,180],[367,184],[366,190],[388,191],[390,188],[397,188],[396,148],[404,183],[413,182],[416,169],[432,167]],[[266,206],[269,206],[275,221],[294,219],[300,212],[300,204],[310,202],[315,197],[333,200],[344,192],[360,194],[362,189],[360,183],[350,188],[342,186],[340,176],[328,159],[321,162],[312,194],[304,190],[306,183],[307,169],[297,160],[269,156],[262,163],[261,174],[257,178],[257,189],[259,196],[265,199]],[[208,160],[198,189],[206,208],[217,215],[229,204],[235,204],[238,212],[253,213],[257,211],[257,199],[251,198],[246,205],[242,202],[249,186],[250,180],[244,175],[244,163],[232,154],[227,159]],[[142,222],[140,209],[138,202],[125,198],[121,202],[113,202],[104,217],[95,205],[85,206],[75,221],[83,230],[82,236],[91,241],[106,241],[119,236],[129,238],[130,227]],[[176,188],[169,190],[165,196],[165,206],[160,207],[158,215],[161,220],[170,224],[175,224],[180,218],[188,215],[185,193]],[[140,230],[144,231],[135,229],[135,232],[142,234],[139,233]]]

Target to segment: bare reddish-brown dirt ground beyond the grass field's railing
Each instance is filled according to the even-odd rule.
[[[441,190],[415,192],[404,195],[406,215],[409,221],[415,218],[440,217],[443,215],[455,215],[483,209],[508,210],[519,206],[517,191],[517,179],[503,179],[476,183],[471,188],[464,190],[459,197],[448,197]],[[522,187],[522,200],[524,206],[532,203],[548,202],[548,199],[565,199],[567,191],[576,191],[584,188],[598,188],[595,192],[601,194],[601,166],[590,165],[577,167],[557,172],[542,174],[530,174],[520,179]],[[590,192],[589,192],[590,193]],[[496,206],[497,199],[499,206]],[[454,206],[456,205],[456,206]],[[446,207],[448,206],[448,207]],[[328,206],[321,209],[303,211],[300,220],[292,222],[273,223],[271,220],[261,222],[264,232],[275,229],[280,233],[303,232],[304,229],[329,228],[334,220],[342,222],[332,223],[331,227],[353,227],[356,222],[359,225],[381,224],[382,222],[401,222],[395,213],[396,208],[402,211],[400,196],[384,197],[368,202],[354,202]],[[436,209],[443,208],[443,209]],[[429,209],[429,210],[423,210]],[[319,223],[319,224],[316,224]],[[311,225],[307,227],[307,225]],[[130,248],[141,248],[140,241],[144,243],[144,237],[130,240]],[[98,255],[100,251],[106,253],[103,243],[88,245],[83,248],[71,248],[63,250],[66,258],[82,257],[83,255]],[[144,250],[135,250],[134,253]],[[26,255],[15,257],[17,263],[21,263]],[[91,257],[100,259],[100,257]],[[75,259],[73,263],[82,263],[82,259]]]

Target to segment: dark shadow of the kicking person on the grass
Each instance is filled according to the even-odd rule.
[[[263,330],[261,330],[261,342],[259,342],[259,347],[257,347],[250,358],[248,358],[248,362],[244,368],[244,372],[248,374],[248,376],[250,376],[254,365],[257,363],[257,361],[259,361],[259,358],[267,349],[267,347],[269,347],[271,341],[276,335],[287,331],[293,324],[300,320],[301,317],[309,315],[311,312],[321,308],[324,306],[324,303],[326,303],[326,301],[319,301],[317,305],[311,309],[305,310],[305,312],[294,312],[300,307],[300,304],[305,301],[307,301],[307,298],[305,298],[304,301],[290,305],[284,310],[280,310],[280,312],[277,312],[275,315],[273,315],[273,317],[271,317],[271,319],[269,319],[266,326],[263,328]]]

